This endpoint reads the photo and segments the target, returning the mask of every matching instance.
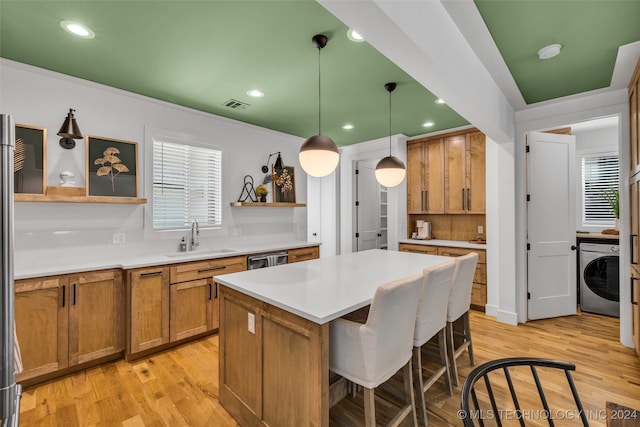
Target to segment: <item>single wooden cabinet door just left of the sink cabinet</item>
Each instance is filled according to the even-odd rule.
[[[128,353],[169,342],[169,267],[141,268],[129,272],[127,307]]]

